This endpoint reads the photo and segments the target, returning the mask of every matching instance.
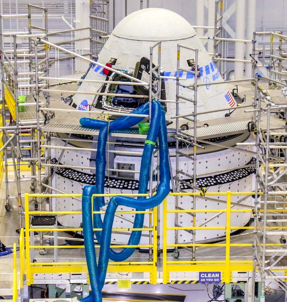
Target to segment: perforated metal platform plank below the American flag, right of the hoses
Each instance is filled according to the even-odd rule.
[[[208,139],[208,138],[218,137],[223,135],[244,133],[248,131],[249,121],[250,121],[249,119],[239,120],[231,123],[213,125],[209,127],[200,127],[197,128],[196,137],[197,139],[203,140],[203,139]],[[194,135],[194,130],[193,129],[182,130],[181,133],[192,137]]]

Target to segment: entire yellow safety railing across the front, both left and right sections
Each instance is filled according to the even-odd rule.
[[[263,193],[258,193],[263,194]],[[103,196],[112,197],[116,195],[123,196],[148,196],[148,194],[94,194],[93,197]],[[170,196],[199,196],[200,193],[170,193]],[[226,208],[224,209],[168,209],[167,198],[163,201],[163,283],[170,282],[171,272],[200,272],[200,271],[221,271],[222,272],[222,282],[230,283],[232,282],[232,272],[235,271],[252,271],[253,270],[253,253],[250,253],[250,258],[238,260],[231,256],[231,248],[234,247],[253,247],[253,239],[250,243],[231,243],[231,231],[233,230],[254,230],[253,226],[232,226],[231,214],[232,213],[242,213],[250,212],[253,209],[249,207],[244,207],[244,204],[234,204],[231,202],[232,196],[238,195],[254,195],[254,192],[206,192],[205,196],[226,196]],[[56,198],[81,198],[81,194],[25,194],[25,234],[26,234],[26,281],[27,285],[33,284],[33,275],[39,273],[88,273],[86,262],[32,262],[30,258],[30,251],[32,249],[83,249],[83,245],[78,246],[61,246],[61,245],[30,245],[30,234],[31,232],[77,232],[82,231],[82,228],[30,228],[30,216],[31,215],[81,215],[81,210],[76,211],[30,211],[29,210],[29,198],[36,197],[56,197]],[[204,198],[204,197],[203,197]],[[225,201],[224,201],[225,202]],[[233,206],[242,206],[243,209],[234,209]],[[126,261],[126,262],[109,262],[107,272],[109,273],[121,273],[121,272],[148,272],[149,280],[151,283],[157,283],[157,272],[161,271],[161,267],[157,265],[157,208],[149,211],[116,211],[116,214],[132,214],[144,213],[149,215],[150,227],[143,228],[113,228],[114,232],[132,231],[132,230],[142,230],[152,233],[153,241],[151,244],[146,245],[111,245],[113,248],[125,248],[125,247],[135,247],[135,248],[151,248],[153,249],[153,260],[152,261]],[[94,214],[105,214],[104,211],[93,211]],[[263,209],[260,210],[263,212]],[[267,209],[267,212],[286,212],[287,209]],[[175,213],[226,213],[226,224],[224,226],[168,226],[167,222],[168,215]],[[260,230],[261,226],[257,224],[257,230]],[[266,226],[266,229],[287,229],[287,226]],[[94,229],[94,231],[101,229]],[[170,238],[169,232],[175,230],[225,230],[225,239],[222,239],[223,243],[167,243],[167,238]],[[282,246],[283,243],[266,243],[266,246]],[[210,252],[210,260],[180,260],[176,259],[169,261],[167,258],[167,249],[174,247],[221,247],[224,249],[224,259],[214,260],[218,255],[212,255],[212,249]],[[96,249],[100,246],[96,245]],[[252,255],[251,255],[252,254]],[[199,256],[200,258],[200,256]],[[213,259],[212,259],[213,258]],[[245,257],[244,257],[245,258]],[[235,259],[235,260],[232,260]],[[21,230],[20,233],[20,275],[21,275],[21,288],[23,287],[23,275],[25,270],[24,262],[24,231]],[[276,269],[274,269],[276,270]],[[277,269],[278,270],[278,269]],[[287,270],[284,270],[287,273]],[[16,276],[17,277],[17,276]],[[161,280],[160,280],[161,281]]]

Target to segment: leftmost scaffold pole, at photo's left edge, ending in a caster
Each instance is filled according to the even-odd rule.
[[[4,49],[4,44],[3,44],[3,28],[2,28],[2,16],[0,15],[0,59],[1,59],[1,79],[4,79],[4,56],[2,55],[2,49]],[[3,127],[6,126],[6,114],[5,114],[5,85],[4,81],[1,81],[1,88],[2,88],[2,125]],[[2,135],[2,140],[3,140],[3,146],[6,143],[6,134],[3,132]],[[10,199],[9,199],[9,186],[8,186],[8,163],[7,163],[7,147],[4,148],[3,150],[3,155],[4,155],[4,164],[5,164],[5,193],[6,193],[6,204],[5,208],[6,210],[10,210]]]

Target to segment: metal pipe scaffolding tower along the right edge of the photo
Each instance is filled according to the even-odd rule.
[[[287,292],[285,274],[279,272],[286,268],[282,264],[287,254],[286,246],[286,110],[285,105],[276,105],[266,91],[260,91],[259,82],[273,81],[255,74],[255,96],[253,131],[256,136],[256,184],[254,208],[254,276],[260,273],[261,294],[265,295],[267,281],[276,284]],[[282,82],[280,85],[284,85]],[[259,87],[259,88],[258,88]],[[285,85],[285,87],[287,87]],[[278,120],[285,123],[278,125]],[[258,192],[262,192],[260,197]],[[254,289],[253,289],[254,290]]]

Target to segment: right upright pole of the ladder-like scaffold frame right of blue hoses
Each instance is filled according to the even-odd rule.
[[[198,66],[198,49],[195,50],[195,74],[194,74],[194,107],[193,107],[193,127],[194,127],[194,137],[193,137],[193,192],[196,190],[196,118],[197,118],[197,66]],[[193,210],[196,210],[196,196],[193,195]],[[196,226],[196,214],[193,212],[193,227]],[[193,244],[195,243],[195,229],[192,233]],[[192,247],[192,260],[195,260],[195,246]]]

